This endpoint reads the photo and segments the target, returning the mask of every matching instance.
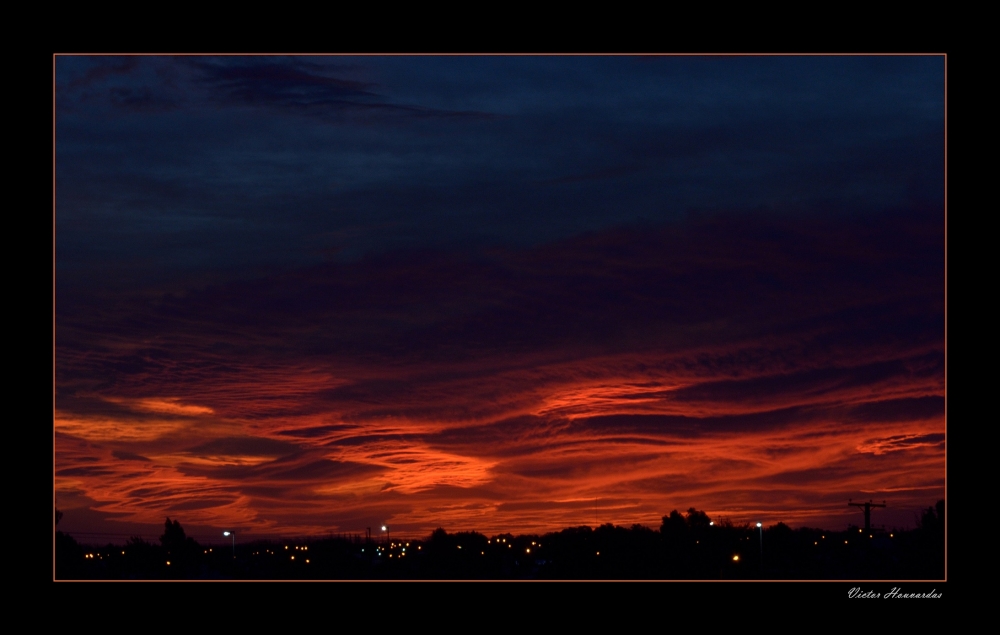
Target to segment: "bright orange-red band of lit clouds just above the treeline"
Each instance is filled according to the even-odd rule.
[[[741,412],[824,403],[843,408],[933,394],[926,382],[822,398],[774,394],[770,403],[755,395],[749,408],[717,400],[709,413],[705,402],[685,401],[678,392],[706,384],[699,377],[640,382],[620,376],[577,384],[545,377],[571,376],[576,368],[550,367],[526,379],[508,375],[499,381],[524,386],[509,396],[511,411],[501,407],[485,419],[471,408],[468,421],[453,414],[436,423],[426,414],[413,420],[402,411],[365,420],[363,403],[345,404],[341,413],[240,416],[261,399],[263,412],[292,411],[290,402],[308,398],[309,384],[277,401],[267,387],[258,394],[244,381],[203,387],[189,401],[107,399],[135,414],[57,416],[57,494],[72,493],[128,522],[153,524],[171,516],[196,526],[292,535],[358,530],[326,524],[324,509],[331,519],[333,510],[354,510],[411,533],[436,526],[487,533],[603,522],[655,526],[670,509],[687,507],[716,517],[810,525],[849,513],[832,509],[833,503],[803,501],[871,491],[873,470],[876,491],[897,498],[922,500],[940,488],[937,416],[851,423],[824,415],[808,426],[733,431],[724,425]],[[233,408],[237,394],[241,403]],[[211,405],[190,405],[199,402]],[[453,399],[444,405],[454,410],[459,404]],[[412,399],[406,405],[417,412],[428,408]],[[147,418],[165,413],[173,418]],[[602,423],[602,417],[623,415],[642,417]],[[643,418],[650,415],[687,422],[712,415],[723,424],[693,433],[689,424],[650,424]],[[215,423],[199,423],[206,416]],[[534,417],[532,425],[517,423],[524,416]],[[838,474],[835,484],[816,480],[823,470]]]

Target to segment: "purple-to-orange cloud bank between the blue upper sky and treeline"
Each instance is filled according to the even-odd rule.
[[[62,527],[912,524],[944,494],[939,218],[723,220],[81,309]]]

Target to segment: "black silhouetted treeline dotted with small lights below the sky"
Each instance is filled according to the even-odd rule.
[[[422,540],[258,540],[199,545],[166,520],[159,544],[83,546],[56,533],[57,579],[629,579],[938,580],[944,501],[916,529],[765,528],[713,521],[694,508],[643,525],[571,527],[544,535],[442,528]]]

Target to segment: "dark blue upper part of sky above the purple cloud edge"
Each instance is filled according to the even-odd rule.
[[[62,289],[943,201],[937,57],[61,57]],[[362,117],[358,119],[358,117]]]

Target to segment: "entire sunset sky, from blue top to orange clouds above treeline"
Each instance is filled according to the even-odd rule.
[[[61,530],[944,497],[943,56],[57,56],[55,88]]]

